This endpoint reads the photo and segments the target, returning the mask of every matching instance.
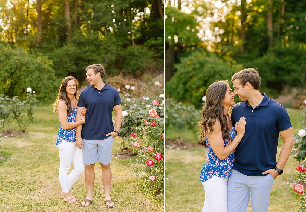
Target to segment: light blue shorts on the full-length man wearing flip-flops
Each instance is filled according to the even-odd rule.
[[[83,158],[85,164],[94,164],[97,161],[107,165],[110,164],[112,155],[113,136],[104,140],[86,140],[83,139]]]

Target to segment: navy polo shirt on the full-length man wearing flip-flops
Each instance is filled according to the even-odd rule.
[[[107,133],[114,131],[112,112],[114,106],[121,104],[121,99],[116,88],[103,82],[101,91],[89,85],[80,93],[77,106],[87,108],[82,139],[104,140],[109,137]]]

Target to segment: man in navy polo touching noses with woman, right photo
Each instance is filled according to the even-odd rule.
[[[259,92],[256,69],[241,70],[232,81],[244,102],[233,108],[231,119],[234,125],[244,116],[246,126],[228,180],[227,212],[247,211],[250,196],[253,212],[268,211],[273,181],[282,174],[293,147],[292,125],[285,108]],[[283,146],[276,162],[278,133]]]

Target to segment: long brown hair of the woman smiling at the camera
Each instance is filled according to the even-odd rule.
[[[78,80],[76,80],[73,76],[66,76],[61,83],[61,86],[60,86],[59,91],[58,91],[58,96],[56,97],[55,102],[52,105],[54,113],[57,113],[58,102],[60,102],[61,100],[64,100],[66,105],[67,105],[67,113],[70,114],[70,111],[73,112],[73,110],[71,109],[71,101],[70,101],[70,99],[67,95],[67,92],[66,92],[66,87],[67,87],[67,84],[68,84],[69,80],[74,80],[75,81],[76,92],[74,93],[73,97],[76,100],[79,99],[79,95],[78,95],[78,92],[77,92],[77,87],[78,87],[78,83],[79,83]]]

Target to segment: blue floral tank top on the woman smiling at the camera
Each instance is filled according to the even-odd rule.
[[[76,108],[71,108],[73,112],[70,111],[70,114],[67,113],[67,120],[68,122],[75,122],[76,121]],[[56,139],[56,145],[60,144],[62,140],[68,142],[75,142],[76,141],[76,128],[72,129],[63,129],[62,125],[59,126],[58,137]]]

